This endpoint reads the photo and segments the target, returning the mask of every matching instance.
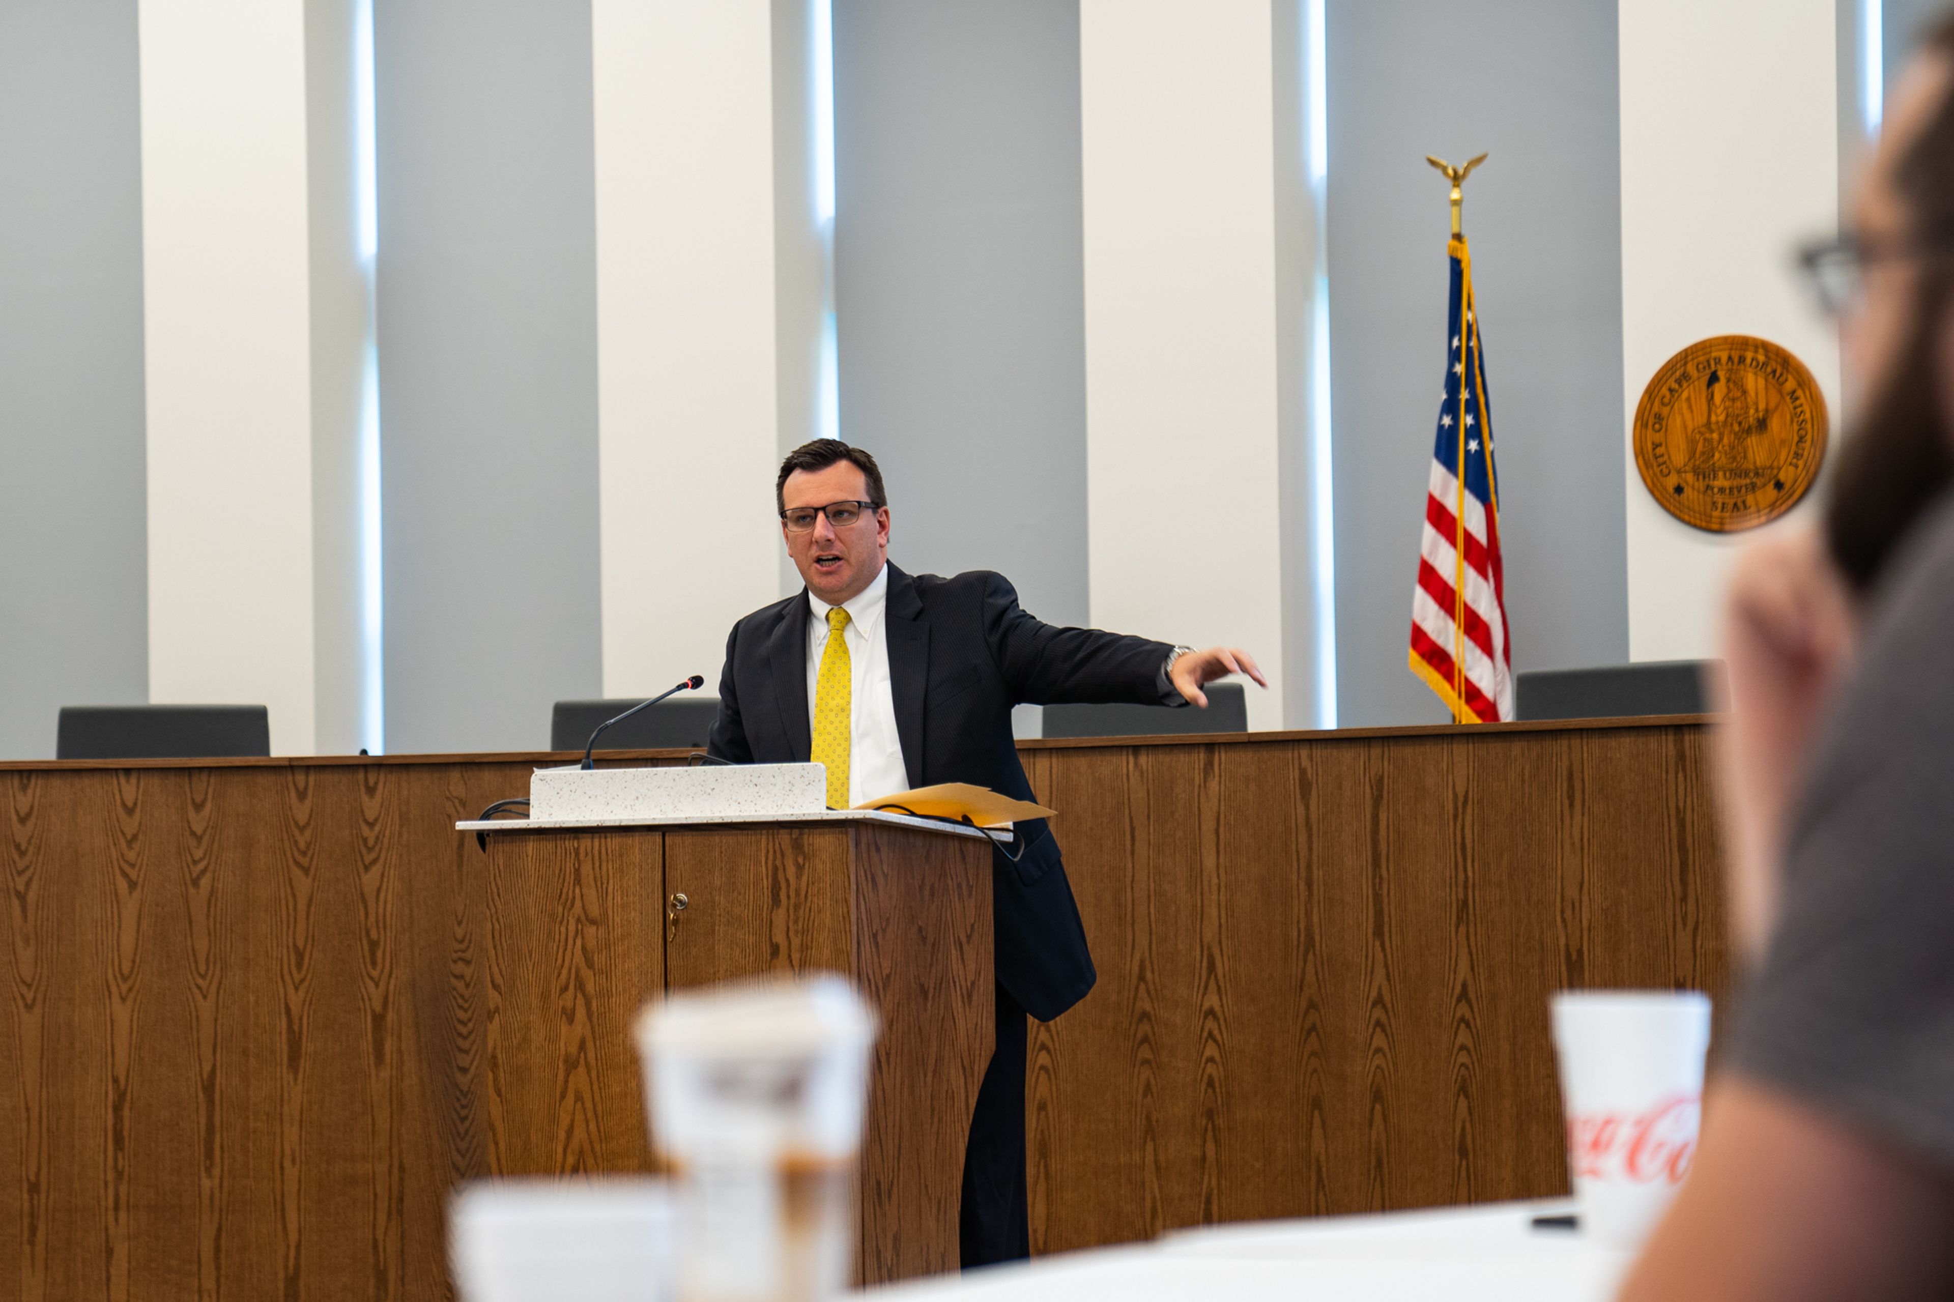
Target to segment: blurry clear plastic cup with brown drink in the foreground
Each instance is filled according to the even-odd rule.
[[[637,1026],[678,1198],[680,1302],[848,1286],[875,1015],[836,976],[672,995]]]

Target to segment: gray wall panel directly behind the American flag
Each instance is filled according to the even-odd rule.
[[[1338,723],[1430,723],[1405,669],[1466,184],[1514,671],[1628,659],[1616,0],[1329,0]]]

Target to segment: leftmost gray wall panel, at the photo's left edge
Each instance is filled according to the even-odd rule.
[[[149,700],[135,0],[0,4],[0,759]]]

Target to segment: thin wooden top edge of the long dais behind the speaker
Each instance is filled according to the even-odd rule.
[[[1211,747],[1286,741],[1378,741],[1387,737],[1444,737],[1452,733],[1551,733],[1618,727],[1692,727],[1714,723],[1714,714],[1655,714],[1628,719],[1534,719],[1526,723],[1430,723],[1415,727],[1335,727],[1272,733],[1170,733],[1157,737],[1041,737],[1024,739],[1020,751],[1069,751],[1081,747]],[[649,759],[682,759],[692,747],[672,751],[600,751],[600,764]],[[84,768],[324,768],[346,764],[573,764],[580,751],[465,751],[459,755],[272,755],[236,759],[121,759],[121,760],[0,760],[0,772],[66,772]]]

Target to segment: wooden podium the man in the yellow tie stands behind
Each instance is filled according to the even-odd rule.
[[[504,1175],[639,1169],[631,1020],[664,989],[838,972],[881,1034],[862,1142],[858,1279],[957,1269],[963,1142],[995,1042],[991,843],[889,813],[643,827],[463,823],[488,833],[504,954],[488,1024]],[[494,907],[555,884],[561,907]],[[578,991],[569,1003],[565,991]],[[590,1054],[578,1062],[578,1054]],[[588,1120],[573,1116],[588,1110]],[[590,1132],[588,1155],[563,1151]]]

